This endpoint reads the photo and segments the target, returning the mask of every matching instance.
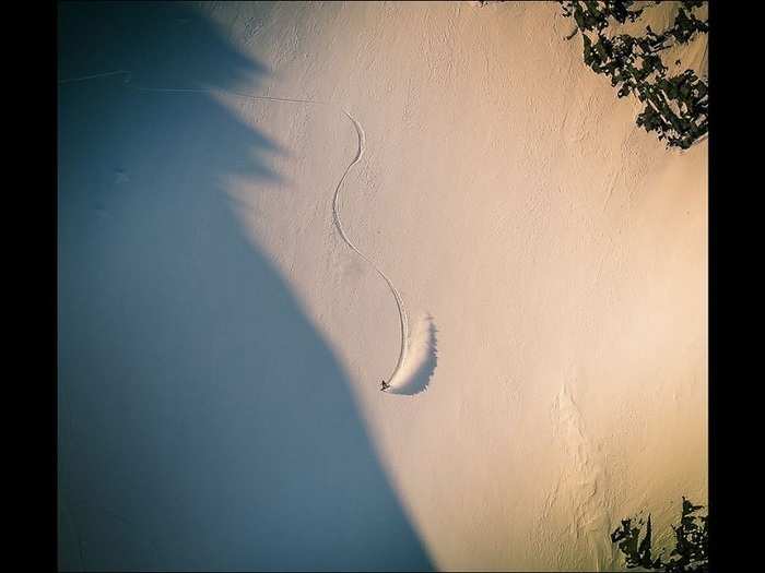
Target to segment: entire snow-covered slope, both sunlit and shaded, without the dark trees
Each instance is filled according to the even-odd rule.
[[[59,7],[62,569],[613,570],[706,503],[707,143],[474,4]]]

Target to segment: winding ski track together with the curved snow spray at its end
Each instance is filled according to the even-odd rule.
[[[129,84],[130,80],[132,79],[132,72],[128,70],[115,70],[111,72],[104,72],[104,73],[98,73],[98,74],[92,74],[92,75],[84,75],[80,77],[70,77],[66,80],[59,80],[58,84],[68,84],[68,83],[73,83],[73,82],[82,82],[82,81],[87,81],[87,80],[96,80],[99,77],[107,77],[111,75],[125,75],[123,83]],[[139,92],[160,92],[160,93],[198,93],[198,94],[214,94],[214,93],[225,93],[228,95],[237,96],[237,97],[245,97],[248,99],[258,99],[262,102],[279,102],[279,103],[286,103],[286,104],[310,104],[310,105],[317,105],[317,106],[329,106],[329,107],[340,107],[337,104],[332,104],[329,102],[321,102],[317,99],[298,99],[298,98],[287,98],[287,97],[271,97],[271,96],[256,96],[251,94],[242,94],[237,92],[229,92],[226,89],[212,89],[212,88],[203,88],[203,87],[143,87],[139,85],[129,85],[132,89],[139,91]],[[436,337],[435,337],[435,325],[433,324],[433,319],[427,315],[424,321],[423,325],[426,327],[426,331],[422,332],[422,336],[419,337],[419,341],[422,343],[423,350],[424,353],[419,353],[419,360],[417,363],[413,365],[411,368],[409,368],[407,371],[403,370],[404,363],[407,361],[407,354],[408,349],[411,346],[411,343],[413,342],[410,338],[409,335],[409,320],[407,318],[407,308],[404,307],[403,303],[403,298],[401,297],[401,294],[399,290],[396,288],[393,285],[393,282],[386,275],[367,255],[365,255],[362,251],[358,250],[358,248],[355,246],[355,243],[349,238],[348,234],[345,232],[345,229],[343,228],[342,222],[340,219],[340,212],[338,208],[338,200],[340,198],[340,191],[342,189],[343,182],[345,181],[345,178],[348,177],[348,174],[351,171],[354,165],[356,165],[361,158],[364,156],[364,151],[365,151],[365,144],[366,144],[366,134],[364,133],[364,128],[362,128],[361,123],[356,118],[354,118],[348,110],[343,109],[340,107],[340,110],[343,112],[343,115],[353,123],[354,129],[356,130],[356,138],[358,140],[358,146],[356,148],[356,156],[353,158],[353,160],[349,164],[349,166],[345,168],[343,171],[342,177],[340,178],[340,181],[338,181],[337,187],[334,188],[334,195],[332,196],[332,220],[334,223],[334,227],[338,229],[338,232],[340,234],[340,237],[342,238],[343,242],[353,251],[355,252],[362,260],[364,260],[369,266],[372,266],[375,272],[386,282],[388,285],[388,288],[390,289],[390,293],[393,295],[393,298],[396,299],[396,306],[399,311],[399,325],[401,329],[401,345],[399,348],[399,357],[396,362],[396,368],[393,368],[393,371],[391,372],[390,377],[388,377],[388,382],[390,383],[390,386],[386,391],[390,391],[389,393],[391,394],[404,394],[404,395],[412,395],[412,394],[417,394],[425,390],[427,387],[427,382],[429,381],[431,375],[433,374],[433,370],[435,369],[435,363],[436,363]],[[421,329],[422,330],[422,329]]]

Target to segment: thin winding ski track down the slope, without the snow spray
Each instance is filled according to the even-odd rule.
[[[104,73],[98,73],[98,74],[92,74],[92,75],[83,75],[79,77],[70,77],[67,80],[59,80],[58,84],[68,84],[68,83],[73,83],[73,82],[84,82],[87,80],[96,80],[99,77],[107,77],[111,75],[125,75],[123,83],[125,84],[130,84],[130,81],[132,79],[132,72],[128,70],[115,70],[111,72],[104,72]],[[354,118],[348,110],[343,109],[340,107],[338,104],[332,104],[330,102],[321,102],[317,99],[297,99],[297,98],[287,98],[287,97],[271,97],[271,96],[256,96],[251,94],[242,94],[237,92],[228,92],[225,89],[212,89],[212,88],[204,88],[204,87],[143,87],[139,85],[128,85],[128,87],[139,91],[139,92],[158,92],[158,93],[197,93],[197,94],[215,94],[215,93],[223,93],[223,94],[228,94],[237,97],[245,97],[248,99],[257,99],[257,100],[262,100],[262,102],[279,102],[279,103],[286,103],[286,104],[309,104],[309,105],[317,105],[317,106],[329,106],[329,107],[334,107],[334,108],[340,108],[342,114],[353,123],[354,129],[356,130],[356,138],[358,139],[358,147],[356,151],[356,156],[354,159],[349,164],[349,166],[345,168],[345,171],[343,172],[342,177],[340,178],[340,181],[338,181],[337,187],[334,188],[334,195],[332,198],[332,220],[334,223],[334,227],[338,229],[338,232],[340,234],[340,237],[342,238],[343,242],[353,251],[355,252],[364,262],[366,262],[369,266],[372,266],[375,272],[386,282],[388,285],[388,288],[390,289],[390,293],[393,295],[393,298],[396,299],[396,306],[398,307],[399,310],[399,324],[401,329],[401,346],[399,348],[399,358],[396,362],[396,368],[393,368],[393,371],[391,372],[390,377],[388,378],[388,382],[391,384],[391,387],[395,385],[401,385],[405,381],[398,381],[398,377],[401,373],[401,369],[403,368],[404,361],[407,360],[407,348],[408,348],[408,341],[409,341],[409,321],[407,318],[407,309],[403,303],[403,298],[401,297],[401,294],[399,290],[396,288],[393,285],[392,280],[386,275],[367,255],[365,255],[362,251],[358,250],[358,248],[355,246],[355,243],[349,238],[349,236],[345,232],[345,229],[343,228],[342,222],[340,219],[340,212],[338,208],[338,200],[340,199],[340,191],[342,189],[343,182],[345,181],[345,178],[348,177],[348,174],[351,171],[354,165],[356,165],[362,157],[364,156],[364,151],[366,147],[366,134],[364,133],[364,128],[362,128],[361,123],[356,118]],[[404,377],[405,378],[405,377]],[[393,384],[396,382],[396,384]],[[387,392],[387,391],[384,391]],[[396,392],[391,392],[391,394],[395,394]]]

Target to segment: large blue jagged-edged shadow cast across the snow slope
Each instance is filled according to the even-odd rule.
[[[59,4],[59,79],[115,70],[267,73],[184,4]],[[209,95],[123,80],[58,87],[60,568],[431,570],[345,374],[226,195],[278,177],[275,145]]]

